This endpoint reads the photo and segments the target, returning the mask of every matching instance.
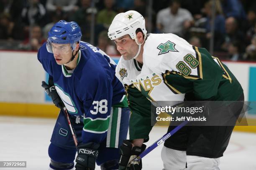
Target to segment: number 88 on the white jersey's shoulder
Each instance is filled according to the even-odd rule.
[[[199,65],[199,61],[191,54],[187,54],[184,57],[184,61],[192,68],[196,68]],[[180,61],[176,68],[185,76],[191,73],[191,69],[183,61]]]

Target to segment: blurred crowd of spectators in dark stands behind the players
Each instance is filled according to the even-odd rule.
[[[92,3],[94,2],[94,3]],[[256,2],[248,0],[0,0],[0,50],[38,50],[59,20],[75,21],[82,40],[120,55],[107,32],[116,14],[136,10],[148,33],[174,33],[225,60],[256,61]],[[92,5],[92,4],[95,4]],[[215,6],[215,15],[212,6]],[[214,32],[212,29],[214,18]],[[94,22],[92,22],[92,20]],[[93,25],[92,25],[93,23]],[[92,27],[93,26],[93,27]],[[93,28],[93,41],[91,38]],[[213,34],[212,34],[213,33]]]

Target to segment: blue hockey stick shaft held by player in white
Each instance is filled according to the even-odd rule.
[[[146,156],[148,153],[150,153],[153,149],[158,147],[161,143],[163,143],[166,139],[170,138],[174,133],[176,133],[180,128],[182,128],[184,125],[187,124],[187,120],[182,122],[180,125],[178,125],[176,128],[174,128],[171,132],[166,133],[164,136],[162,136],[159,140],[157,140],[155,143],[150,145],[146,150],[144,150],[138,157],[136,157],[133,161],[141,160],[144,156]]]

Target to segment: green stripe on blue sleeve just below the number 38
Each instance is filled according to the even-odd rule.
[[[84,131],[92,133],[105,133],[108,131],[110,117],[107,120],[84,119]]]

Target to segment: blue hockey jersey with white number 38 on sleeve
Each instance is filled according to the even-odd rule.
[[[70,115],[84,116],[82,142],[100,143],[107,135],[111,106],[125,95],[115,77],[115,62],[102,50],[80,43],[77,67],[70,72],[58,65],[46,43],[38,50],[38,60],[53,77],[56,91]]]

